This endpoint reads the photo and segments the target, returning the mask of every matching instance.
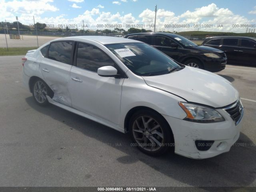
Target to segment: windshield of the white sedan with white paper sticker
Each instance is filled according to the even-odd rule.
[[[144,43],[121,43],[105,45],[132,72],[140,76],[167,74],[180,67],[171,58]]]

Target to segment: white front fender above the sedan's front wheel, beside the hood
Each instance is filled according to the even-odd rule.
[[[184,99],[169,92],[148,86],[143,78],[125,79],[122,85],[120,126],[124,128],[126,114],[134,107],[144,106],[162,115],[183,119],[186,113],[178,105]]]

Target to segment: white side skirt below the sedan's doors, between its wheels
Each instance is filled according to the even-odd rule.
[[[118,125],[116,125],[116,124],[114,124],[114,123],[111,123],[111,122],[106,121],[106,120],[104,120],[104,119],[102,119],[102,118],[98,118],[98,117],[96,117],[96,116],[93,116],[93,115],[84,113],[84,112],[82,112],[82,111],[76,110],[76,109],[71,108],[71,107],[69,107],[69,106],[66,106],[66,105],[60,104],[60,103],[58,103],[58,102],[55,102],[55,101],[52,100],[52,98],[50,98],[48,95],[46,95],[46,98],[48,99],[48,102],[51,103],[51,104],[53,104],[53,105],[56,105],[56,106],[58,106],[58,107],[60,107],[60,108],[62,108],[62,109],[68,110],[68,111],[70,111],[70,112],[72,112],[72,113],[75,113],[75,114],[77,114],[77,115],[80,115],[80,116],[82,116],[82,117],[88,118],[88,119],[90,119],[90,120],[93,120],[93,121],[95,121],[95,122],[98,122],[98,123],[100,123],[100,124],[103,124],[103,125],[105,125],[105,126],[108,126],[108,127],[110,127],[110,128],[113,128],[113,129],[115,129],[115,130],[117,130],[117,131],[120,131],[120,132],[124,133],[124,129],[123,129],[123,128],[120,128]]]

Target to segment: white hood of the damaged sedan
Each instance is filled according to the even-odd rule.
[[[239,99],[232,84],[214,73],[186,66],[184,69],[159,76],[142,76],[149,86],[178,95],[188,102],[215,108]]]

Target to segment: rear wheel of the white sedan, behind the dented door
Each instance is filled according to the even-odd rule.
[[[49,104],[46,95],[53,96],[52,90],[49,86],[40,78],[36,79],[32,84],[32,94],[35,102],[40,106],[46,106]]]

